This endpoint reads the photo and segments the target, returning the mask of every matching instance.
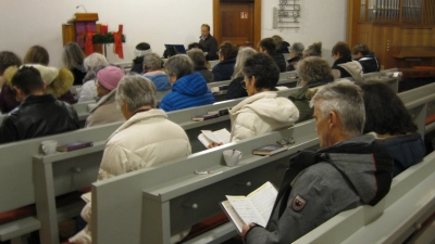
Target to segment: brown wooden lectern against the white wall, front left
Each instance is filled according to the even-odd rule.
[[[76,13],[75,18],[72,18],[67,24],[62,25],[62,37],[63,46],[69,42],[77,42],[77,44],[84,50],[86,35],[86,25],[89,25],[91,31],[100,31],[100,24],[97,24],[97,13]],[[94,44],[95,52],[102,52],[102,44]]]

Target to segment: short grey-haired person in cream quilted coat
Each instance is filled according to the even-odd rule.
[[[169,120],[163,111],[156,110],[156,87],[149,79],[125,76],[116,90],[116,103],[126,121],[108,139],[98,181],[190,155],[184,129]],[[90,205],[87,203],[82,211],[87,222],[90,222]],[[91,243],[89,226],[70,242]]]

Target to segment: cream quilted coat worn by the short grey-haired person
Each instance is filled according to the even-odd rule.
[[[186,132],[181,126],[167,120],[162,110],[140,112],[125,121],[108,139],[98,181],[187,157],[190,153],[189,138]],[[71,237],[70,242],[90,244],[92,243],[90,194],[85,194],[83,198],[87,204],[82,210],[82,217],[88,226]],[[187,232],[174,235],[174,242],[179,241]]]

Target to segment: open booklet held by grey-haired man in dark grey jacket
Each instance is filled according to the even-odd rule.
[[[227,195],[221,207],[241,233],[244,224],[268,224],[277,194],[275,187],[268,181],[247,196]]]

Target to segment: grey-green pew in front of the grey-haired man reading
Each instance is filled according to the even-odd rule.
[[[435,100],[435,94],[430,97]],[[407,107],[415,110],[411,113],[424,114],[427,101],[428,99],[420,100],[419,106],[415,102],[411,102]],[[414,123],[421,126],[425,115],[415,115],[413,118]],[[172,234],[220,213],[217,203],[225,200],[225,194],[246,195],[268,180],[278,185],[284,168],[288,164],[288,157],[298,150],[318,144],[314,125],[314,120],[309,120],[286,130],[197,153],[185,160],[164,164],[156,169],[138,170],[94,183],[92,240],[97,240],[98,243],[110,243],[111,240],[115,242],[128,240],[129,243],[169,243]],[[286,153],[266,157],[251,154],[253,149],[288,137],[293,137],[296,144]],[[221,155],[228,149],[244,153],[239,166],[232,168],[224,166]],[[194,175],[195,169],[214,174],[197,176]],[[167,178],[163,176],[164,174],[169,175]],[[116,196],[127,188],[128,194],[123,194],[122,200],[116,200]],[[138,196],[140,190],[141,198]],[[124,208],[125,203],[129,204]],[[140,203],[141,209],[139,209]],[[139,221],[140,234],[137,232]],[[114,232],[115,230],[117,232]],[[235,234],[232,223],[225,223],[187,243],[221,243]]]

